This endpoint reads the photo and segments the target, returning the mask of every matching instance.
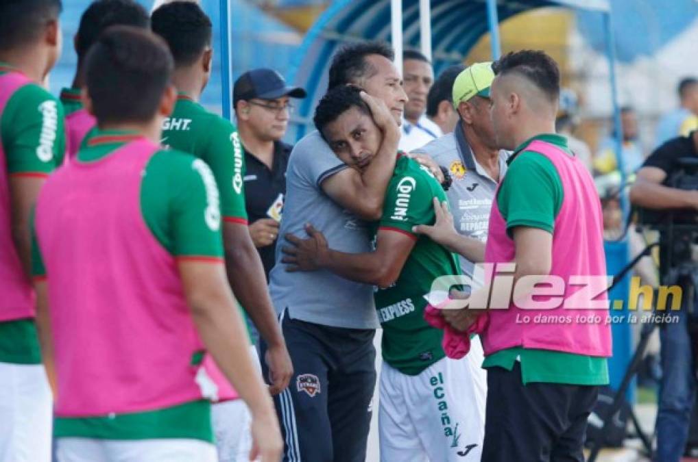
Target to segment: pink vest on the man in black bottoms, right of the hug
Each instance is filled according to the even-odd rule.
[[[555,220],[550,274],[565,281],[563,298],[567,299],[583,288],[567,284],[570,277],[606,275],[600,200],[591,176],[576,157],[570,157],[543,141],[533,141],[526,151],[541,153],[551,160],[562,181],[564,200]],[[499,212],[497,201],[492,205],[489,218],[484,259],[487,263],[514,261],[514,241],[507,235],[507,224]],[[536,297],[536,300],[549,298]],[[607,306],[606,294],[595,298],[595,303]],[[589,356],[611,356],[611,328],[604,325],[608,314],[606,309],[586,306],[565,309],[563,304],[554,309],[521,309],[512,303],[509,309],[488,311],[489,325],[483,335],[485,355],[523,346]],[[573,321],[577,315],[597,315],[601,323],[517,323],[517,319],[520,319],[517,316],[530,316],[530,320],[533,320],[537,314],[570,315]]]

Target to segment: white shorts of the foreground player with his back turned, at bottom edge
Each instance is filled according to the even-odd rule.
[[[57,462],[217,462],[216,447],[202,440],[97,440],[58,438]]]

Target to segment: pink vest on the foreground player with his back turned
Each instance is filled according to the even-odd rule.
[[[36,208],[48,276],[60,417],[155,410],[202,397],[204,347],[174,257],[144,222],[140,186],[158,150],[137,139],[52,175]]]

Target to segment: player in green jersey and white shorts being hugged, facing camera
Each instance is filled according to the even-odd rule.
[[[336,155],[365,169],[380,151],[391,121],[385,106],[359,88],[341,86],[325,95],[315,125]],[[383,216],[373,223],[373,252],[347,254],[329,249],[322,233],[308,226],[310,238],[286,236],[289,270],[324,268],[378,286],[374,299],[383,325],[380,375],[380,453],[383,461],[479,461],[484,436],[485,378],[482,353],[462,360],[445,356],[443,331],[424,320],[433,280],[458,275],[448,249],[413,226],[433,224],[434,199],[446,201],[429,169],[400,156],[390,180]]]

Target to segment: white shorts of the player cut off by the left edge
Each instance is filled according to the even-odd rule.
[[[43,364],[0,362],[1,462],[50,462],[52,406]]]

